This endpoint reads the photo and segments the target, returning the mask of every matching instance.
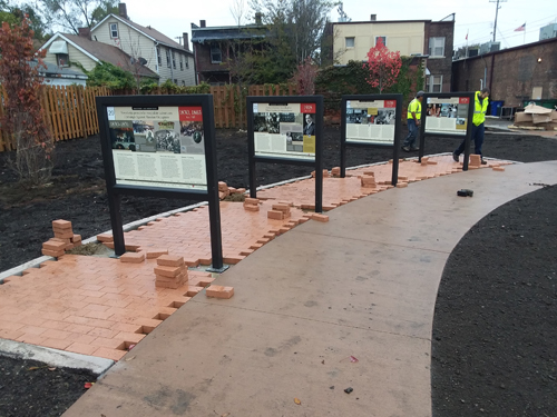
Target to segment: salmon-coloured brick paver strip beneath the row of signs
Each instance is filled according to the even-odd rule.
[[[432,157],[429,162],[402,161],[400,183],[461,170],[451,156]],[[507,163],[490,161],[480,168]],[[391,169],[390,163],[384,163],[350,170],[350,177],[344,179],[324,178],[324,209],[392,188]],[[370,171],[377,186],[362,187],[359,177]],[[314,179],[263,190],[257,197],[262,199],[255,202],[258,210],[253,210],[253,203],[246,209],[240,202],[221,202],[226,264],[237,264],[275,236],[314,216],[304,212],[314,209]],[[273,208],[289,217],[268,218]],[[326,216],[314,218],[328,220]],[[127,249],[135,254],[123,260],[63,255],[58,261],[23,271],[21,277],[7,278],[0,286],[0,338],[118,360],[213,281],[209,274],[188,270],[188,280],[180,279],[177,289],[162,288],[156,287],[155,274],[156,258],[166,254],[163,259],[167,264],[183,257],[189,267],[211,265],[207,207],[159,218],[127,232],[125,239]],[[110,235],[100,235],[98,240],[111,246]]]

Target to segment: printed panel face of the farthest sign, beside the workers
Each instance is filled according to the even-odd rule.
[[[466,136],[468,128],[468,97],[428,97],[426,101],[426,132]]]

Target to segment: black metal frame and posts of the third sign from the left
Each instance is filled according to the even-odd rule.
[[[360,148],[392,148],[392,177],[391,183],[397,185],[399,178],[399,150],[400,150],[400,135],[402,131],[402,95],[352,95],[342,96],[341,98],[341,178],[346,176],[346,148],[348,147],[360,147]],[[377,103],[380,101],[390,102],[389,106],[382,107],[394,109],[394,131],[392,142],[389,141],[373,141],[373,140],[351,140],[346,138],[348,128],[348,102],[359,101]],[[377,106],[374,106],[377,108]],[[368,110],[369,112],[370,110]],[[369,115],[368,115],[369,116]],[[390,116],[392,117],[392,116]],[[374,120],[375,121],[375,120]]]

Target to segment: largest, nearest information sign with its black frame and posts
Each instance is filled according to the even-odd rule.
[[[97,97],[115,254],[123,195],[208,201],[212,272],[223,272],[213,96]],[[115,165],[116,163],[116,165]]]

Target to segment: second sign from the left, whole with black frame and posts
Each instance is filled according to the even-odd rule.
[[[315,168],[315,212],[322,212],[323,96],[247,97],[246,102],[250,197],[257,197],[256,162],[310,166]],[[314,142],[312,149],[307,141]]]

